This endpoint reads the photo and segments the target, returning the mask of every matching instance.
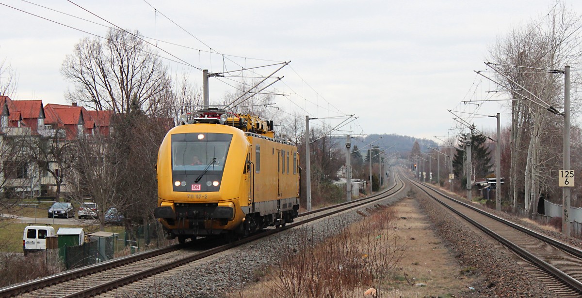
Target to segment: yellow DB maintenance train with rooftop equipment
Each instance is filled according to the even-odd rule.
[[[166,238],[246,236],[293,222],[299,155],[272,121],[219,108],[180,116],[158,152],[158,207]]]

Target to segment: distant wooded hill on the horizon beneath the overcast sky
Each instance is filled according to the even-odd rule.
[[[380,139],[380,137],[382,137]],[[335,137],[337,138],[337,142],[338,145],[341,145],[343,147],[343,145],[345,144],[346,138],[345,137]],[[379,140],[378,140],[379,139]],[[378,140],[378,141],[376,141]],[[376,141],[376,142],[374,142]],[[432,141],[430,139],[419,139],[419,138],[414,138],[414,137],[409,137],[407,135],[397,135],[397,134],[382,134],[382,135],[377,135],[377,134],[372,134],[372,135],[368,135],[366,137],[356,137],[356,138],[352,138],[352,148],[353,146],[358,146],[358,148],[362,148],[365,145],[368,145],[371,142],[372,146],[380,146],[382,148],[388,148],[389,146],[394,145],[394,147],[392,147],[391,149],[388,150],[388,152],[391,153],[410,153],[410,151],[412,150],[412,146],[414,145],[414,142],[418,142],[418,144],[420,144],[420,150],[423,152],[429,152],[430,149],[427,149],[427,146],[431,146],[432,148],[438,148],[438,144],[435,141]],[[366,147],[365,149],[367,149],[368,147]],[[362,153],[362,155],[365,155],[365,153]]]

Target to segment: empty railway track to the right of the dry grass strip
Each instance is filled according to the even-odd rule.
[[[514,224],[407,178],[456,216],[495,239],[494,246],[560,297],[582,296],[582,250]]]

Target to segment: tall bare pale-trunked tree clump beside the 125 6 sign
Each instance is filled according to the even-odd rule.
[[[555,137],[554,133],[560,133],[563,123],[553,119],[557,116],[548,113],[544,103],[528,95],[521,87],[549,105],[562,106],[562,76],[540,69],[562,69],[564,65],[580,60],[582,52],[579,34],[576,34],[578,27],[577,16],[564,5],[556,6],[547,16],[532,21],[524,28],[512,30],[489,50],[489,59],[502,64],[499,70],[503,76],[499,76],[498,80],[503,82],[503,87],[514,99],[511,104],[510,154],[512,206],[515,209],[521,201],[530,214],[537,213],[540,196],[548,191],[551,171],[557,170],[548,166],[547,161],[549,156],[559,152],[552,152],[551,149],[556,148],[543,144],[548,142],[548,138]],[[519,100],[524,94],[532,97],[531,100]],[[553,133],[549,134],[549,131]],[[524,181],[523,188],[519,186],[520,180]],[[523,189],[523,201],[518,198],[520,189]]]

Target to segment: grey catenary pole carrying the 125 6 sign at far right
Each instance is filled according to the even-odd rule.
[[[564,67],[564,160],[563,170],[570,170],[570,66]],[[562,232],[570,236],[570,188],[562,187]]]

